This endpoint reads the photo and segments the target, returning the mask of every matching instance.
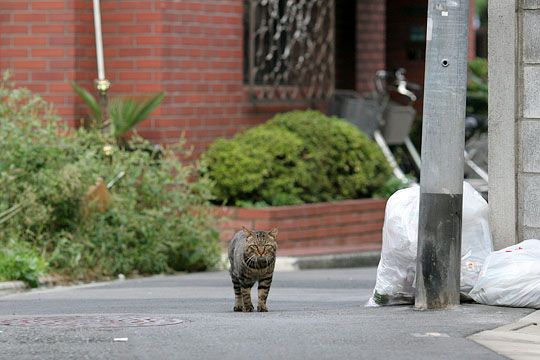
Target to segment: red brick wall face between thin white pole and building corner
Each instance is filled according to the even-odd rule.
[[[163,91],[162,9],[158,1],[101,0],[103,52],[109,95],[142,96]],[[167,99],[168,100],[168,99]],[[138,129],[160,141],[157,119],[165,106],[154,111]]]

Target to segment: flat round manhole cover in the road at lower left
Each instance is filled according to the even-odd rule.
[[[183,323],[184,320],[160,315],[54,315],[0,317],[0,326],[53,326],[53,327],[142,327]]]

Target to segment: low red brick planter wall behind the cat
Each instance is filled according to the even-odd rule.
[[[280,255],[314,255],[379,250],[386,200],[276,206],[264,209],[222,207],[224,246],[242,226],[279,229]]]

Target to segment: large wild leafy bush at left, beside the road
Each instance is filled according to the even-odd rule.
[[[28,247],[72,278],[211,268],[219,249],[209,181],[179,162],[181,147],[159,158],[149,148],[138,136],[127,151],[112,134],[68,129],[41,98],[4,81],[0,246]],[[105,209],[84,201],[98,179],[117,176]]]

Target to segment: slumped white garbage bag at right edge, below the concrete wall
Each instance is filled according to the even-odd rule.
[[[486,305],[540,309],[540,240],[491,253],[470,296]]]

